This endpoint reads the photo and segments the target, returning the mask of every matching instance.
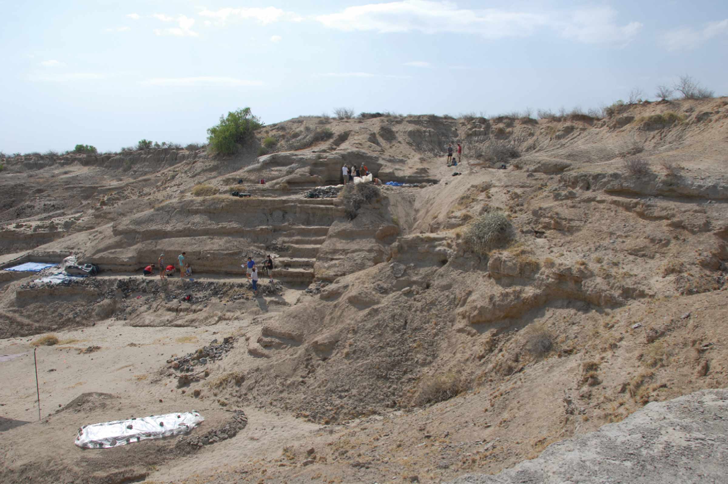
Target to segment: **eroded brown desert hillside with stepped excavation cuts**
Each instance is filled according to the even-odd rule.
[[[43,386],[52,405],[114,402],[72,425],[9,429],[4,480],[439,482],[727,386],[728,100],[609,114],[301,117],[225,159],[165,148],[3,160],[0,263],[74,253],[102,272],[53,286],[1,274],[0,352],[55,332],[60,344],[39,350],[59,367]],[[450,142],[464,147],[456,167]],[[367,191],[358,208],[356,190],[305,197],[340,183],[345,163],[405,186]],[[499,214],[501,243],[474,250],[473,224]],[[141,276],[183,250],[194,281]],[[240,264],[269,253],[278,282],[261,278],[255,298]],[[182,367],[209,378],[179,385],[174,358],[223,337],[223,357]],[[2,411],[19,421],[36,410],[28,357],[0,362],[22,389],[1,394]],[[210,427],[226,408],[250,424],[194,451],[103,451],[111,467],[78,470],[92,465],[71,442],[84,422],[190,406]],[[32,427],[64,448],[56,472],[21,444]]]

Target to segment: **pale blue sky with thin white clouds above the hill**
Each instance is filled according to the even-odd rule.
[[[689,74],[728,95],[728,1],[0,0],[0,151],[204,142],[299,115],[596,108]]]

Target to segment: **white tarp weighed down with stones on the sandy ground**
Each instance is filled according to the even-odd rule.
[[[79,429],[76,445],[86,448],[118,447],[140,440],[186,434],[202,421],[205,418],[192,410],[92,424]]]

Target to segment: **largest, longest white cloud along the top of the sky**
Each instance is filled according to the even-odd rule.
[[[462,9],[451,1],[402,0],[347,7],[315,17],[328,28],[379,33],[470,33],[487,39],[530,36],[550,28],[567,39],[583,42],[628,41],[641,29],[638,22],[618,25],[611,8],[577,11]]]

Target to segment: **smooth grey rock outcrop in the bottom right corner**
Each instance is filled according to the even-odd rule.
[[[728,390],[703,390],[652,402],[500,474],[466,475],[451,484],[721,483],[727,453]]]

